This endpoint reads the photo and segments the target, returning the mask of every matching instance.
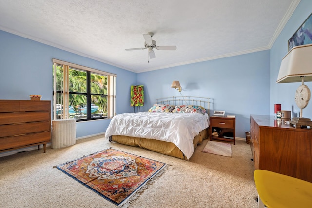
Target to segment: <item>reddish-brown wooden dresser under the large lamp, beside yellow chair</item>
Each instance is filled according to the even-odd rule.
[[[251,115],[254,169],[312,182],[312,129],[291,127],[274,116]]]

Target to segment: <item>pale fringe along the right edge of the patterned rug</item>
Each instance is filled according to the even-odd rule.
[[[130,196],[125,202],[121,203],[118,208],[128,208],[129,206],[133,205],[133,203],[140,197],[140,195],[145,191],[145,189],[152,186],[152,184],[164,174],[169,169],[168,164],[165,164],[159,172],[152,176],[140,189],[138,189],[132,196]]]

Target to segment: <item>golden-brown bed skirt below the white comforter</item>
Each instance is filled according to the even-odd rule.
[[[208,129],[204,129],[199,132],[197,136],[193,139],[194,150],[197,148],[198,144],[201,144],[204,139],[208,138]],[[147,150],[156,151],[161,154],[177,157],[183,160],[188,160],[183,152],[176,147],[176,145],[172,142],[165,142],[156,139],[145,139],[145,138],[137,138],[131,136],[120,136],[113,135],[109,137],[110,142],[117,142],[124,145],[130,145],[135,147],[141,147]]]

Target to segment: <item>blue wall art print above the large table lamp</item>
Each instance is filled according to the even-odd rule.
[[[288,40],[288,51],[298,45],[312,43],[312,13]]]

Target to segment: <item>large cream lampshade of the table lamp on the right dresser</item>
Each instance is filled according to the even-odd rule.
[[[276,83],[312,81],[312,44],[293,47],[282,59]]]

